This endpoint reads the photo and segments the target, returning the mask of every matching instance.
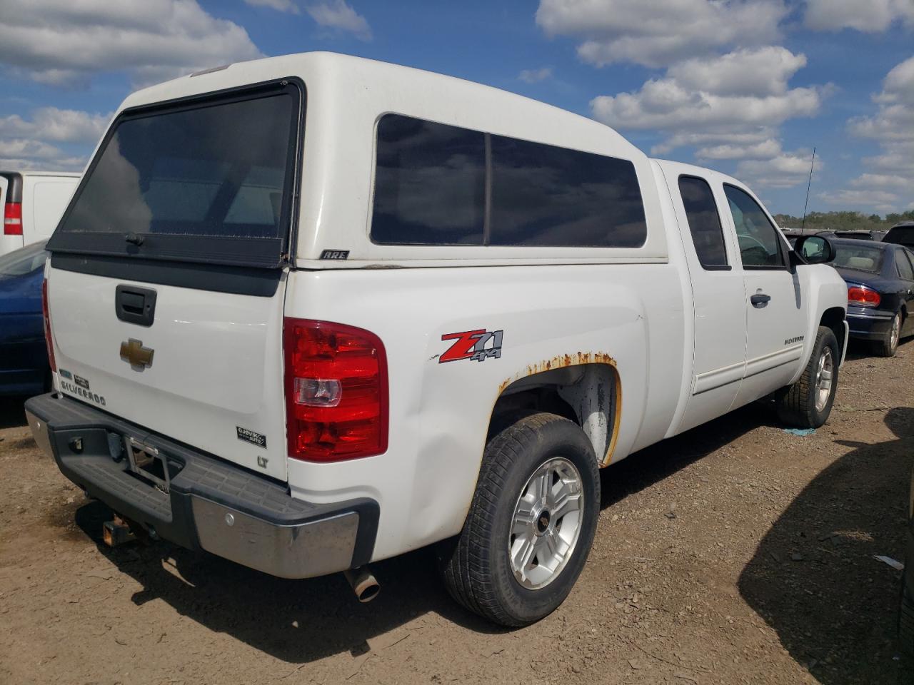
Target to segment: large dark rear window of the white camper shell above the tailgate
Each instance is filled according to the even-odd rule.
[[[303,98],[283,79],[124,111],[48,249],[279,267]]]

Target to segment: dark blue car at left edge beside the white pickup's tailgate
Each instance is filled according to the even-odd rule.
[[[0,395],[37,395],[48,387],[41,313],[47,258],[43,242],[0,257]]]

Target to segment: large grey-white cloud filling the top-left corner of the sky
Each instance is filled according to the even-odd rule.
[[[262,57],[244,28],[197,0],[0,0],[0,16],[0,63],[54,85],[101,71],[149,83]]]

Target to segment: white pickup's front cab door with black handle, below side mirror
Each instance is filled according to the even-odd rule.
[[[771,216],[746,189],[723,189],[746,290],[746,371],[735,408],[788,385],[800,370],[809,305]]]

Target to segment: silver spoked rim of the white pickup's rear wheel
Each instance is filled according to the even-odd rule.
[[[520,491],[508,535],[508,559],[520,585],[537,590],[554,581],[578,544],[584,489],[578,468],[550,458]]]

